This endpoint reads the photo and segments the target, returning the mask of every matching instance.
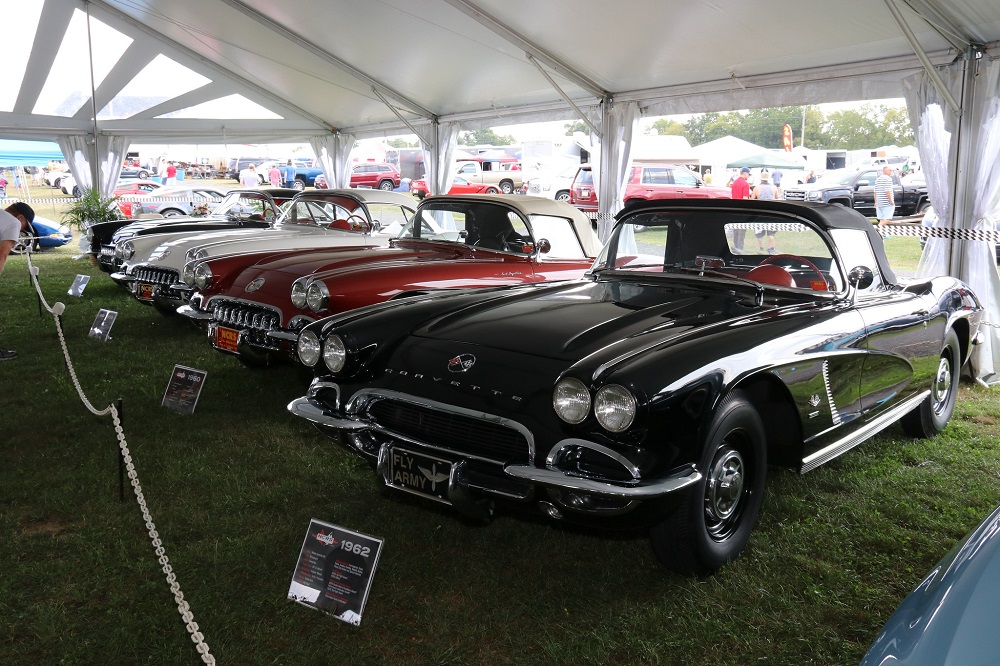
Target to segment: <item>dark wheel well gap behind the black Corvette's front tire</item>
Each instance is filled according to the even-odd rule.
[[[767,459],[798,469],[802,462],[802,424],[788,387],[773,375],[756,375],[730,389],[742,391],[764,424]]]

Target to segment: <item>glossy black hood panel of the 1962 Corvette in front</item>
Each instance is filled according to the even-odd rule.
[[[537,295],[528,289],[480,301],[425,322],[413,335],[574,361],[599,351],[616,356],[686,333],[706,335],[760,315],[752,300],[680,282],[574,281]]]

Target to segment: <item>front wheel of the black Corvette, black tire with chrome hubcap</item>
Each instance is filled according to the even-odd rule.
[[[668,569],[706,576],[743,552],[764,499],[764,425],[739,391],[724,398],[712,418],[698,469],[702,479],[650,530],[650,540]]]

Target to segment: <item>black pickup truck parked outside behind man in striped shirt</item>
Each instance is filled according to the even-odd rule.
[[[875,179],[882,169],[835,169],[827,171],[815,183],[794,185],[782,190],[788,201],[823,201],[825,203],[849,206],[867,217],[875,215]],[[893,201],[896,202],[897,216],[923,213],[930,200],[926,185],[904,185],[899,176],[893,174]]]

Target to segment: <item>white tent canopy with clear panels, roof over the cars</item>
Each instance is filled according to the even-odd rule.
[[[960,127],[935,67],[1000,53],[997,0],[19,0],[5,19],[0,137],[58,141],[81,186],[131,142],[309,141],[340,182],[354,138],[412,133],[444,191],[459,131],[584,119],[602,230],[642,115],[901,97],[920,75]]]

